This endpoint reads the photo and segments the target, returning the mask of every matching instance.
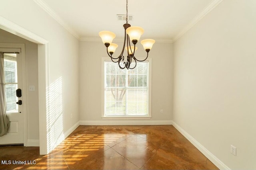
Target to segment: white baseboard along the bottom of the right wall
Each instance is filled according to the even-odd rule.
[[[231,170],[228,166],[226,166],[223,162],[221,162],[214,154],[212,154],[209,150],[207,150],[203,145],[201,145],[196,139],[190,136],[184,129],[182,129],[177,123],[174,121],[172,125],[184,136],[188,141],[190,141],[204,156],[206,156],[214,165],[216,165],[220,170]]]

